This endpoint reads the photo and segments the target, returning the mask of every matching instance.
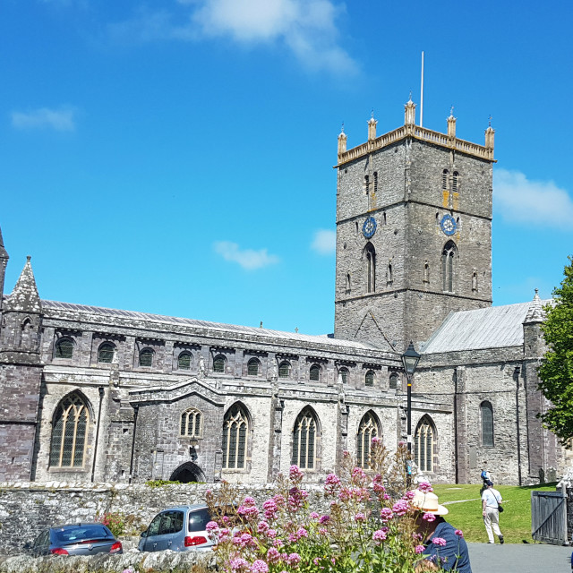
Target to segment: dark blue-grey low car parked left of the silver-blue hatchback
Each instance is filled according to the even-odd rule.
[[[76,523],[53,526],[42,531],[34,543],[24,546],[31,555],[96,555],[97,553],[123,553],[106,526],[100,523]]]

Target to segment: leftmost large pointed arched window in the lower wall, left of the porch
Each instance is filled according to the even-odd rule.
[[[90,412],[80,394],[66,396],[56,407],[52,422],[50,467],[82,467]]]

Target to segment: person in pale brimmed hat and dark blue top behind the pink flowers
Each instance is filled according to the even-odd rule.
[[[421,551],[423,561],[416,565],[415,571],[454,569],[458,573],[472,573],[464,535],[442,517],[448,509],[438,503],[438,496],[430,491],[429,484],[421,486],[423,490],[415,490],[410,502],[418,509],[415,525],[424,545]],[[422,550],[422,546],[420,548]]]

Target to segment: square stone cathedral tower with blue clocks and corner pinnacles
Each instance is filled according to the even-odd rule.
[[[335,336],[402,352],[449,312],[492,304],[492,127],[485,146],[405,123],[338,136]]]

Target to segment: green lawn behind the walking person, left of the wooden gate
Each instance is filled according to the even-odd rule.
[[[480,499],[481,485],[440,483],[433,485],[433,489],[440,498],[440,503],[458,501],[458,503],[446,505],[449,509],[446,519],[452,526],[464,532],[466,541],[487,543]],[[506,543],[522,543],[523,540],[533,543],[531,538],[531,492],[532,490],[554,492],[555,484],[528,487],[496,485],[495,489],[500,492],[503,498],[501,505],[505,511],[500,515],[500,529]]]

